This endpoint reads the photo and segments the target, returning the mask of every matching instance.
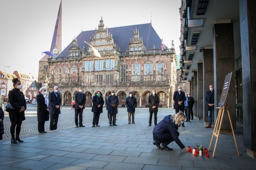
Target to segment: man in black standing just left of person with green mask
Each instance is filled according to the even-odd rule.
[[[79,127],[84,127],[83,125],[83,109],[86,102],[86,96],[82,93],[82,87],[78,87],[78,92],[75,93],[75,124],[78,127],[78,116],[79,116]]]

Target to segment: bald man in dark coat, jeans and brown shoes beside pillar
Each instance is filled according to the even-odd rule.
[[[206,92],[205,102],[208,105],[208,126],[206,128],[211,128],[211,114],[214,111],[214,87],[210,85],[210,91]]]

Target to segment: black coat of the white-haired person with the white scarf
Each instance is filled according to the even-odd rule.
[[[49,111],[47,111],[47,106],[45,104],[44,95],[39,92],[39,95],[36,96],[37,102],[37,121],[45,122],[49,121]]]

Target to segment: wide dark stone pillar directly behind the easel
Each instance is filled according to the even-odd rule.
[[[228,95],[227,105],[234,129],[236,129],[236,88],[235,88],[235,61],[234,61],[234,34],[233,23],[220,23],[213,26],[213,62],[214,62],[214,104],[219,103],[225,76],[233,72]],[[216,122],[215,114],[214,120]],[[225,111],[222,125],[222,132],[231,132],[231,126],[227,111]]]

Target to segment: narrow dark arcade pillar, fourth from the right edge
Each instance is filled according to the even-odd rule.
[[[204,103],[204,88],[203,88],[203,63],[197,63],[197,115],[198,120],[203,120],[203,103]]]

